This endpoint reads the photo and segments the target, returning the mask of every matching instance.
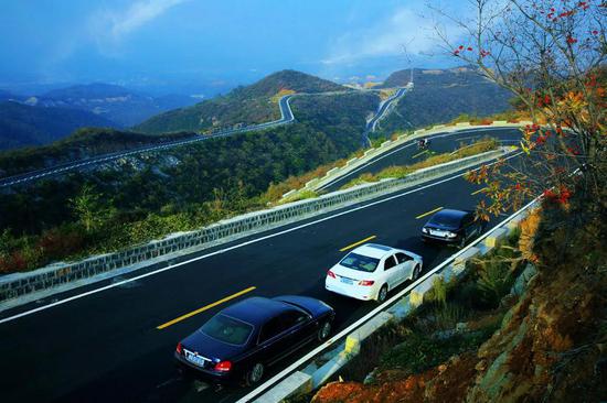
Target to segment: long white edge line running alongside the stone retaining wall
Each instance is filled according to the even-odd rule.
[[[514,156],[518,156],[522,154],[522,152],[519,152],[514,155],[511,155],[509,157],[507,157],[505,160],[510,160]],[[493,165],[496,162],[492,162],[490,164],[486,164],[486,165]],[[475,168],[473,171],[476,171],[478,168]],[[340,216],[344,216],[347,214],[350,214],[350,213],[354,213],[354,211],[358,211],[358,210],[362,210],[364,208],[368,208],[368,207],[372,207],[372,206],[376,206],[379,204],[382,204],[382,203],[386,203],[386,202],[390,202],[390,200],[394,200],[396,198],[400,198],[400,197],[403,197],[403,196],[407,196],[412,193],[415,193],[415,192],[419,192],[419,190],[423,190],[425,188],[428,188],[428,187],[433,187],[433,186],[436,186],[436,185],[440,185],[445,182],[449,182],[449,181],[452,181],[455,178],[458,178],[460,177],[462,174],[457,174],[457,175],[454,175],[454,176],[449,176],[445,179],[440,179],[438,182],[434,182],[432,184],[427,184],[427,185],[424,185],[422,187],[418,187],[418,188],[415,188],[413,190],[408,190],[408,192],[405,192],[405,193],[401,193],[401,194],[397,194],[397,195],[394,195],[394,196],[390,196],[390,197],[386,197],[386,198],[383,198],[381,200],[375,200],[375,202],[372,202],[370,204],[366,204],[364,206],[359,206],[359,207],[354,207],[350,210],[345,210],[345,211],[341,211],[341,213],[338,213],[338,214],[334,214],[332,216],[329,216],[329,217],[324,217],[324,218],[320,218],[318,220],[315,220],[315,221],[310,221],[310,222],[306,222],[306,224],[302,224],[300,226],[297,226],[297,227],[292,227],[292,228],[288,228],[288,229],[285,229],[283,231],[278,231],[278,232],[274,232],[274,233],[269,233],[267,236],[264,236],[264,237],[260,237],[260,238],[255,238],[255,239],[252,239],[252,240],[248,240],[246,242],[243,242],[243,243],[238,243],[238,244],[234,244],[232,247],[228,247],[228,248],[225,248],[225,249],[220,249],[220,250],[216,250],[214,252],[211,252],[211,253],[206,253],[206,254],[202,254],[200,257],[196,257],[196,258],[192,258],[190,260],[187,260],[187,261],[183,261],[183,262],[179,262],[179,263],[175,263],[173,265],[169,265],[167,268],[162,268],[162,269],[158,269],[158,270],[155,270],[155,271],[151,271],[149,273],[146,273],[146,274],[141,274],[141,275],[137,275],[135,277],[131,277],[131,279],[127,279],[127,280],[123,280],[123,281],[119,281],[117,283],[113,283],[113,284],[108,284],[108,285],[105,285],[103,287],[99,287],[99,288],[95,288],[95,290],[90,290],[90,291],[87,291],[85,293],[82,293],[82,294],[78,294],[78,295],[74,295],[74,296],[71,296],[71,297],[67,297],[65,299],[61,299],[61,301],[56,301],[54,303],[51,303],[49,305],[44,305],[44,306],[40,306],[38,308],[34,308],[34,309],[30,309],[30,311],[25,311],[25,312],[22,312],[20,314],[17,314],[17,315],[13,315],[13,316],[9,316],[9,317],[6,317],[3,319],[0,319],[0,325],[1,324],[4,324],[7,322],[11,322],[11,320],[14,320],[14,319],[18,319],[20,317],[23,317],[23,316],[28,316],[28,315],[31,315],[31,314],[34,314],[36,312],[41,312],[41,311],[44,311],[44,309],[49,309],[49,308],[52,308],[54,306],[57,306],[57,305],[63,305],[65,303],[68,303],[71,301],[75,301],[75,299],[78,299],[78,298],[82,298],[82,297],[85,297],[85,296],[88,296],[88,295],[93,295],[93,294],[96,294],[96,293],[100,293],[103,291],[106,291],[106,290],[110,290],[110,288],[114,288],[114,287],[117,287],[117,286],[120,286],[123,284],[127,284],[127,283],[130,283],[132,281],[137,281],[137,280],[140,280],[140,279],[145,279],[145,277],[149,277],[150,275],[155,275],[155,274],[158,274],[158,273],[162,273],[162,272],[166,272],[168,270],[171,270],[171,269],[174,269],[174,268],[179,268],[181,265],[184,265],[184,264],[188,264],[188,263],[191,263],[191,262],[195,262],[195,261],[199,261],[199,260],[202,260],[202,259],[206,259],[206,258],[211,258],[211,257],[214,257],[216,254],[221,254],[221,253],[225,253],[227,251],[231,251],[231,250],[234,250],[234,249],[238,249],[238,248],[242,248],[242,247],[246,247],[248,244],[252,244],[252,243],[257,243],[257,242],[260,242],[260,241],[264,241],[266,239],[270,239],[270,238],[274,238],[274,237],[278,237],[278,236],[281,236],[281,235],[285,235],[285,233],[288,233],[288,232],[292,232],[292,231],[297,231],[301,228],[306,228],[306,227],[310,227],[310,226],[313,226],[313,225],[317,225],[319,222],[323,222],[323,221],[328,221],[330,219],[333,219],[336,217],[340,217]],[[381,197],[381,196],[379,196]]]

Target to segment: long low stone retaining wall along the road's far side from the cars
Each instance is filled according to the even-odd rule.
[[[92,257],[74,263],[56,263],[28,273],[14,273],[0,277],[0,303],[38,291],[64,285],[92,277],[116,269],[141,263],[150,259],[169,255],[192,248],[211,247],[224,241],[306,219],[318,214],[364,202],[433,177],[455,173],[477,164],[494,160],[511,149],[490,151],[462,160],[419,170],[400,179],[383,179],[379,183],[360,185],[350,189],[333,192],[321,197],[289,203],[271,209],[249,213],[223,220],[200,230],[173,233],[164,239],[130,248],[111,254]],[[193,252],[194,250],[192,250]]]

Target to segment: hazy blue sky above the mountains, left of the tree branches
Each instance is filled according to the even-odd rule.
[[[434,48],[422,0],[2,0],[0,84],[385,75]]]

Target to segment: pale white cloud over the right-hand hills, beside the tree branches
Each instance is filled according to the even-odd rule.
[[[436,47],[434,22],[416,8],[398,8],[371,28],[348,32],[330,44],[324,65],[353,63],[363,58],[418,55]]]

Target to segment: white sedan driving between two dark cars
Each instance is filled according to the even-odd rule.
[[[327,272],[324,287],[356,299],[386,299],[388,291],[422,273],[422,257],[413,252],[365,243]]]

